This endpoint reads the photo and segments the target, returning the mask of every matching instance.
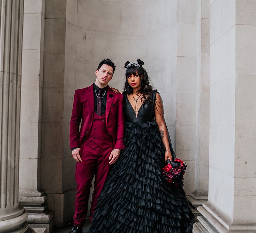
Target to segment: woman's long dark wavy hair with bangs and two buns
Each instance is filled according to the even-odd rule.
[[[146,104],[153,104],[153,101],[151,99],[151,91],[153,88],[150,85],[150,79],[148,77],[147,71],[142,67],[144,65],[144,62],[140,59],[138,59],[137,62],[140,65],[140,67],[131,65],[127,68],[127,65],[130,64],[129,61],[127,61],[124,65],[124,68],[127,68],[125,72],[126,81],[124,84],[124,92],[128,95],[133,92],[132,87],[130,87],[127,81],[127,76],[132,74],[135,75],[137,73],[140,76],[141,89],[138,90],[136,94],[142,93],[142,97],[145,100]]]

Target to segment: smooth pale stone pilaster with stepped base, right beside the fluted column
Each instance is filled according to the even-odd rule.
[[[45,1],[24,1],[22,47],[19,202],[28,211],[29,226],[51,232],[53,211],[41,189],[42,89]],[[31,98],[33,97],[33,98]]]

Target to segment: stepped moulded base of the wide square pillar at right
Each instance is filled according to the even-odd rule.
[[[216,210],[212,210],[207,203],[199,206],[199,213],[197,220],[199,224],[195,224],[193,232],[211,232],[211,233],[256,233],[256,225],[235,225],[229,224]]]

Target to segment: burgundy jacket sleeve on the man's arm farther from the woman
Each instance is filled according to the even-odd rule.
[[[74,103],[73,103],[72,115],[70,120],[70,133],[69,133],[70,148],[80,147],[79,125],[82,118],[82,111],[83,111],[82,103],[80,101],[78,92],[76,90],[74,95]]]

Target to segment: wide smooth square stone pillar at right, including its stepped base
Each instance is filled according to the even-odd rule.
[[[194,232],[256,232],[255,1],[211,1],[209,198]]]

